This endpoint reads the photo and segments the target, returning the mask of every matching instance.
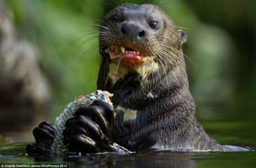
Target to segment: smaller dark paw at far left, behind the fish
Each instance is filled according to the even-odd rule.
[[[26,148],[28,155],[42,155],[51,152],[54,139],[54,128],[50,123],[44,121],[33,130],[35,144],[29,144]]]

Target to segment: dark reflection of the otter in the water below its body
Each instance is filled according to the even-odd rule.
[[[76,167],[195,167],[185,153],[134,153],[130,155],[96,155],[67,157]]]

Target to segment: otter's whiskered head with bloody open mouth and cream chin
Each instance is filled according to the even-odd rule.
[[[186,34],[153,4],[124,4],[102,20],[100,52],[108,60],[113,82],[136,73],[141,81],[152,73],[163,73],[182,60]]]

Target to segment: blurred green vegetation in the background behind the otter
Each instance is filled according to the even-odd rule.
[[[253,0],[8,0],[20,36],[40,49],[52,86],[52,121],[74,97],[95,91],[99,50],[92,31],[109,10],[124,2],[158,4],[188,34],[184,53],[191,59],[186,62],[201,121],[255,121]]]

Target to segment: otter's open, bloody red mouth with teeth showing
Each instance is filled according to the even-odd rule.
[[[141,65],[145,57],[145,52],[118,45],[111,45],[105,52],[109,54],[110,59],[120,60],[126,66]]]

